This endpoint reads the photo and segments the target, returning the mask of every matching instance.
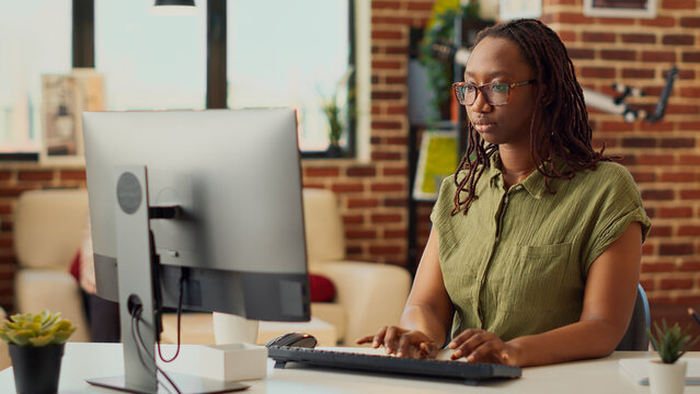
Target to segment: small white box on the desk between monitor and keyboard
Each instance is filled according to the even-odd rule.
[[[267,348],[264,346],[203,345],[199,351],[203,378],[230,382],[267,375]]]

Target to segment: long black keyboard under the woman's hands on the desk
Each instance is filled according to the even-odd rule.
[[[337,368],[375,373],[397,373],[412,376],[460,379],[467,384],[474,384],[485,379],[519,378],[523,374],[520,367],[496,363],[410,359],[288,346],[268,347],[267,357],[276,361],[275,368],[285,368],[287,362],[299,362],[309,367]]]

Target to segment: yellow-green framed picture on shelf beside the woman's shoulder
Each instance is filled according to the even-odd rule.
[[[443,179],[455,173],[457,164],[457,131],[423,132],[413,183],[413,199],[436,200]]]

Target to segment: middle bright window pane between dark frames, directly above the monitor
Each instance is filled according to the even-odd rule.
[[[206,99],[206,1],[192,15],[153,2],[95,0],[95,69],[105,109],[200,109]]]

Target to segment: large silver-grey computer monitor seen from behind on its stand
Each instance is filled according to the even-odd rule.
[[[97,294],[119,302],[125,349],[125,382],[105,385],[154,392],[142,348],[179,301],[310,318],[292,109],[83,113],[83,130]]]

